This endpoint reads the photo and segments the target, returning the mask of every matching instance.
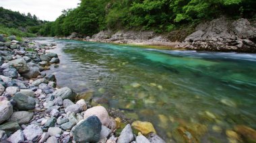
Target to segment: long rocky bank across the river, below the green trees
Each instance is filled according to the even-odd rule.
[[[227,19],[220,17],[205,21],[191,30],[174,30],[168,34],[152,31],[101,31],[83,38],[75,32],[63,39],[106,42],[116,44],[136,44],[149,46],[169,46],[187,50],[217,52],[256,52],[256,21],[253,19]]]

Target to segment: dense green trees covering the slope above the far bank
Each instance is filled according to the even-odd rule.
[[[82,0],[39,34],[68,36],[77,32],[91,36],[100,30],[135,29],[170,32],[220,15],[253,17],[255,0]]]

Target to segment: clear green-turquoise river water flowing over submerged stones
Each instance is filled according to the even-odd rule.
[[[152,122],[167,142],[181,125],[204,127],[193,130],[201,142],[227,142],[225,130],[238,124],[256,128],[256,54],[37,41],[57,42],[51,52],[61,63],[46,73],[54,72],[60,87],[93,90],[108,107]]]

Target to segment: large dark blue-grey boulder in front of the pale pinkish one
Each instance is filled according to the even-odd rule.
[[[98,142],[101,126],[98,117],[92,115],[72,128],[73,140],[76,142]]]

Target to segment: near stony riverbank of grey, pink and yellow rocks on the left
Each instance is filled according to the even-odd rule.
[[[45,75],[60,62],[56,44],[18,42],[0,34],[0,142],[164,142],[150,122],[121,122]],[[135,134],[136,133],[136,134]]]

